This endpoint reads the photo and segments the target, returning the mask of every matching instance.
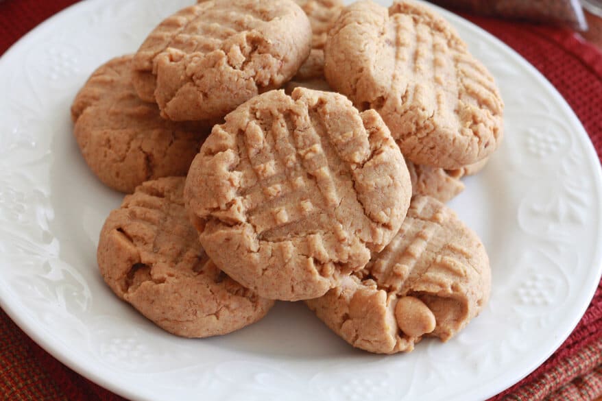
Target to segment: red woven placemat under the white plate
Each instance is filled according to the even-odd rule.
[[[38,23],[75,2],[0,1],[0,54]],[[602,53],[563,29],[466,17],[506,42],[545,75],[575,110],[602,157]],[[599,285],[588,311],[559,350],[493,400],[591,400],[602,395],[601,364]],[[123,400],[56,361],[1,310],[0,396],[17,401]]]

